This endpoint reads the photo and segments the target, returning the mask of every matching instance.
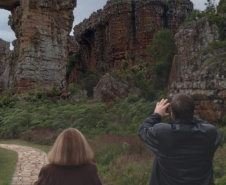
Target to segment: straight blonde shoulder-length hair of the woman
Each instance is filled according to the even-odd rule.
[[[48,153],[49,163],[73,166],[92,161],[93,151],[83,134],[75,129],[64,130]]]

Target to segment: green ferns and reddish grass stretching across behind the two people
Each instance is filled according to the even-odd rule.
[[[159,94],[158,99],[163,96]],[[156,101],[129,96],[109,104],[94,100],[72,103],[27,94],[5,96],[1,99],[5,105],[0,108],[0,138],[5,140],[0,143],[30,146],[47,153],[62,130],[77,128],[94,150],[94,162],[104,185],[147,185],[154,156],[136,133],[144,119],[153,113]],[[220,131],[225,137],[226,127]],[[226,184],[225,154],[223,141],[214,157],[216,185]]]

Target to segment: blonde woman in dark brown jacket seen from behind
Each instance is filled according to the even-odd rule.
[[[48,154],[35,185],[101,185],[93,151],[80,131],[64,130]]]

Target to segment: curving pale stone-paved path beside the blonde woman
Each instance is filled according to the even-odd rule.
[[[38,179],[42,166],[48,163],[46,153],[41,150],[11,144],[0,144],[0,147],[18,153],[18,161],[11,185],[33,185]]]

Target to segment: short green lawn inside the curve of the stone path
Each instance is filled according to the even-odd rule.
[[[0,148],[0,156],[0,184],[10,185],[18,155],[14,151]]]

